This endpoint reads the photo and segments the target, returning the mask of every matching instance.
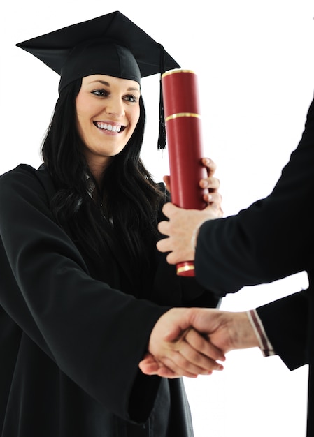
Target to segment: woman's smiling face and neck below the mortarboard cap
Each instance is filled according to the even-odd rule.
[[[140,117],[140,96],[140,86],[134,80],[83,77],[76,97],[76,121],[83,153],[97,179],[131,138]]]

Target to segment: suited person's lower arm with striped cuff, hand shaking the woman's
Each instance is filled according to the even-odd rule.
[[[286,366],[293,370],[308,363],[308,292],[297,292],[255,310],[238,313],[192,308],[187,313],[184,325],[180,313],[177,313],[177,318],[170,320],[163,340],[169,341],[171,347],[180,353],[180,344],[176,341],[180,329],[184,327],[184,341],[195,350],[201,351],[205,347],[197,330],[201,333],[201,340],[210,341],[224,354],[233,349],[259,347],[265,357],[279,355]],[[193,329],[187,330],[188,323]],[[208,344],[206,356],[220,360],[217,355],[210,355],[213,351],[207,347]],[[146,374],[176,376],[152,355],[141,361],[140,368]]]

